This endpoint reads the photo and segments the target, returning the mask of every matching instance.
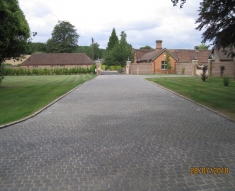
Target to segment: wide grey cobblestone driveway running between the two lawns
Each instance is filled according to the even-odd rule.
[[[0,129],[0,190],[234,191],[235,123],[141,77],[99,76]]]

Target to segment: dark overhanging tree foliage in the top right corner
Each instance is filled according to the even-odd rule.
[[[179,0],[171,0],[177,5]],[[180,0],[181,7],[186,0]],[[229,50],[235,56],[235,0],[202,0],[199,7],[197,30],[205,29],[202,43],[212,42],[213,47]],[[229,49],[228,49],[229,48]]]

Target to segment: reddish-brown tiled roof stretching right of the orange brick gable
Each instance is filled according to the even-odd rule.
[[[190,50],[190,49],[170,49],[179,59],[178,62],[191,62],[197,59],[198,62],[206,63],[211,55],[211,50]]]

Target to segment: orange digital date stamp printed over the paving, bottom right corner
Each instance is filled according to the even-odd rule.
[[[228,167],[191,167],[190,174],[228,174]]]

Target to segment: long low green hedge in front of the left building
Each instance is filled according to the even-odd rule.
[[[25,75],[71,75],[95,73],[94,66],[91,68],[4,68],[4,76],[25,76]]]

